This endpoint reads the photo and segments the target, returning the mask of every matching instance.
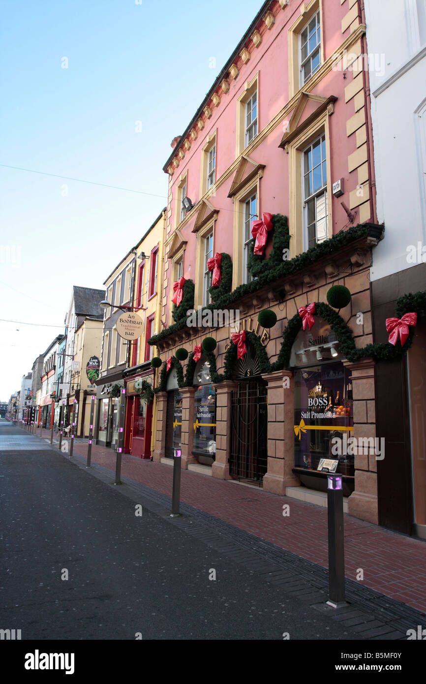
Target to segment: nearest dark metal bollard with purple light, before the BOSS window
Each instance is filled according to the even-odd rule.
[[[333,608],[345,605],[345,539],[341,475],[328,475],[328,601]]]

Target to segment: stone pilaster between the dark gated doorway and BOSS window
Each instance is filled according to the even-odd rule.
[[[268,465],[263,490],[285,494],[286,487],[298,486],[294,466],[294,380],[291,371],[275,371],[262,376],[268,393]]]

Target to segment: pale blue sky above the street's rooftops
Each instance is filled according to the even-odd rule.
[[[170,143],[262,4],[0,1],[0,401],[165,207]]]

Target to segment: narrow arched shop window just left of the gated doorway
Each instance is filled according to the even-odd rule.
[[[209,364],[203,355],[194,372],[194,438],[192,453],[198,462],[213,464],[216,453],[216,392]]]

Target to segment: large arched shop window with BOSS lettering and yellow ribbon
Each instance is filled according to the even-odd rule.
[[[343,495],[355,488],[351,372],[330,324],[315,317],[291,350],[294,374],[295,473],[302,485],[327,490],[327,473],[340,473]]]

